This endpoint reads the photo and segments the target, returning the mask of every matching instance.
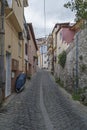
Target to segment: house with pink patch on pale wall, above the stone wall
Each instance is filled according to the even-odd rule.
[[[57,75],[58,56],[69,47],[74,39],[76,29],[70,23],[57,23],[52,31],[54,50],[54,75]]]

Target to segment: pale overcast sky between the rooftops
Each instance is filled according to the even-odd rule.
[[[74,22],[74,13],[63,7],[69,0],[45,0],[46,34],[44,31],[44,0],[29,0],[25,8],[26,21],[33,24],[35,37],[49,35],[56,23]]]

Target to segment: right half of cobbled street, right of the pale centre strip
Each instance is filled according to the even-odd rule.
[[[43,81],[44,104],[56,130],[87,130],[86,107],[74,102],[48,73]]]

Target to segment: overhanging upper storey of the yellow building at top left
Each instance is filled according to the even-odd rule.
[[[23,30],[24,7],[22,2],[21,0],[7,0],[8,6],[5,7],[5,17],[10,20],[17,32]]]

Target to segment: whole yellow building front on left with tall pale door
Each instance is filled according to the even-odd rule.
[[[5,7],[5,88],[3,98],[7,98],[15,90],[18,74],[25,71],[24,64],[24,7],[25,0],[7,0]]]

